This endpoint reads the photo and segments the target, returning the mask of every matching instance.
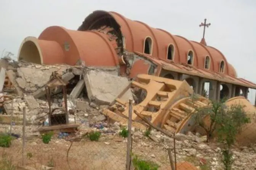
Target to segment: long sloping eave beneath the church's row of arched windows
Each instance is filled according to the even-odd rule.
[[[202,73],[202,74],[199,74],[197,72],[192,72],[192,71],[189,71],[189,70],[182,69],[182,67],[179,66],[178,63],[173,63],[173,62],[167,63],[164,60],[158,60],[156,58],[153,58],[149,55],[146,55],[146,54],[143,54],[143,53],[140,53],[140,52],[135,52],[135,54],[143,56],[143,57],[147,58],[148,60],[151,60],[156,65],[161,65],[161,69],[165,69],[167,71],[179,72],[179,73],[187,74],[187,75],[190,75],[190,76],[197,76],[197,77],[206,78],[206,79],[210,79],[210,80],[216,80],[216,81],[219,81],[219,82],[230,83],[230,84],[235,84],[235,85],[240,85],[240,86],[243,86],[243,87],[256,89],[256,84],[254,84],[254,83],[252,83],[248,80],[245,80],[245,79],[231,77],[231,76],[226,75],[226,74],[223,75],[223,74],[219,74],[218,72],[211,72],[211,71],[206,70],[207,72],[209,72],[212,75],[217,74],[215,76],[209,76],[209,75],[203,74],[203,72],[205,72],[205,70],[202,70],[200,68],[195,68],[195,66],[190,66],[189,65],[190,69],[192,69],[192,71],[194,69],[195,71],[198,71],[198,72]],[[168,64],[174,65],[177,68],[172,68],[171,66],[168,66]],[[156,76],[159,76],[159,75],[156,75]],[[219,78],[219,77],[216,77],[216,76],[219,76],[219,77],[225,76],[225,77]],[[233,80],[227,80],[227,79],[233,79]]]

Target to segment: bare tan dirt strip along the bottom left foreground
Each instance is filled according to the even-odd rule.
[[[38,137],[27,139],[24,152],[25,164],[34,168],[42,164],[58,170],[69,170],[69,165],[71,170],[125,169],[127,142],[120,137],[106,135],[98,142],[87,139],[74,142],[69,151],[68,164],[67,150],[70,144],[70,141],[58,138],[54,138],[49,144],[44,144]],[[12,160],[13,165],[21,165],[22,140],[14,140],[10,148],[0,148],[0,153],[2,155],[6,153],[8,161]],[[133,153],[156,162],[161,168],[169,165],[167,152],[160,147],[151,146],[149,139],[145,142],[134,142]]]

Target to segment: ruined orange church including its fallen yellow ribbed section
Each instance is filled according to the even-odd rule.
[[[204,37],[200,42],[190,41],[141,21],[127,19],[116,12],[94,11],[78,30],[52,26],[38,38],[29,36],[21,43],[18,60],[39,65],[117,69],[118,76],[137,80],[139,83],[133,81],[132,85],[147,91],[144,101],[134,107],[138,110],[149,105],[161,108],[154,111],[142,108],[141,114],[151,116],[151,123],[172,132],[185,132],[191,124],[183,112],[193,111],[192,105],[187,103],[188,98],[180,98],[181,94],[188,96],[187,92],[194,91],[216,101],[231,99],[227,105],[234,102],[232,98],[239,96],[235,101],[240,100],[250,111],[255,111],[246,99],[248,89],[256,89],[256,84],[238,78],[226,57],[218,49],[208,46]],[[187,84],[182,83],[183,80]],[[206,84],[207,95],[204,94]],[[182,92],[181,87],[187,91]],[[126,105],[119,99],[123,94],[116,101]],[[157,100],[157,97],[165,100]],[[208,99],[199,98],[197,104],[204,106]],[[124,116],[115,110],[106,109],[103,114],[125,122],[127,107],[122,111]],[[136,114],[133,114],[133,120],[133,126],[143,129],[144,125],[136,122],[139,120]],[[240,139],[245,136],[244,133]]]

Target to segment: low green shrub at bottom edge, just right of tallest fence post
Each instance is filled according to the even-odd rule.
[[[133,166],[135,170],[158,170],[159,168],[156,163],[139,159],[137,155],[133,158]]]

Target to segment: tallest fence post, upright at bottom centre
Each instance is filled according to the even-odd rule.
[[[127,139],[127,153],[126,153],[126,170],[131,168],[131,121],[132,121],[132,100],[129,100],[129,119],[128,119],[128,139]]]

